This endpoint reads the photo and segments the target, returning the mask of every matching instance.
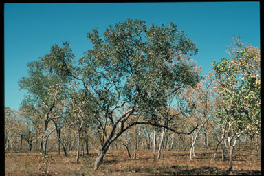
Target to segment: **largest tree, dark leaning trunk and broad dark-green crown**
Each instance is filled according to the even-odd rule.
[[[164,127],[155,119],[159,109],[166,107],[168,96],[199,81],[193,71],[196,65],[187,62],[198,50],[183,33],[173,23],[147,28],[144,21],[127,19],[110,25],[103,37],[98,28],[88,33],[94,48],[80,58],[80,66],[74,67],[63,57],[50,61],[59,75],[75,78],[94,96],[100,111],[96,120],[103,132],[95,170],[111,143],[131,126]]]

